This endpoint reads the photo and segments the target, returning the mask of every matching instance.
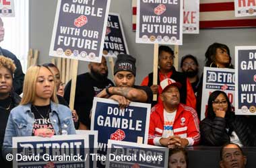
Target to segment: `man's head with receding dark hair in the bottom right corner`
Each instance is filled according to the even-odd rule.
[[[238,144],[225,144],[220,150],[220,168],[245,168],[247,157]]]

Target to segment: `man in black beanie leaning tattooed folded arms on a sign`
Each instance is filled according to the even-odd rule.
[[[152,91],[147,86],[137,86],[135,84],[136,59],[128,54],[117,55],[114,67],[115,87],[106,87],[97,97],[114,99],[119,103],[119,107],[126,108],[131,101],[141,103],[152,102]]]

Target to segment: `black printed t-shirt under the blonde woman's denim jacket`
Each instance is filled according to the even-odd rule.
[[[49,115],[51,112],[51,105],[47,106],[31,106],[31,111],[34,114],[34,124],[33,124],[33,131],[32,136],[34,136],[35,130],[39,128],[47,128],[50,129],[55,133],[53,129],[53,125],[51,124]]]

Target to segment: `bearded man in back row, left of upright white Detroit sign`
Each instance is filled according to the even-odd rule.
[[[197,85],[199,82],[199,77],[197,76],[197,73],[198,73],[197,58],[195,58],[195,56],[191,54],[183,56],[183,58],[181,58],[181,70],[189,79],[193,87],[193,91],[196,95]]]

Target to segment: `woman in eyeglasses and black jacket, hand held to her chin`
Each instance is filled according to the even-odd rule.
[[[247,116],[236,116],[224,91],[214,91],[208,99],[207,117],[200,123],[201,143],[222,146],[232,142],[255,146],[253,125]]]

